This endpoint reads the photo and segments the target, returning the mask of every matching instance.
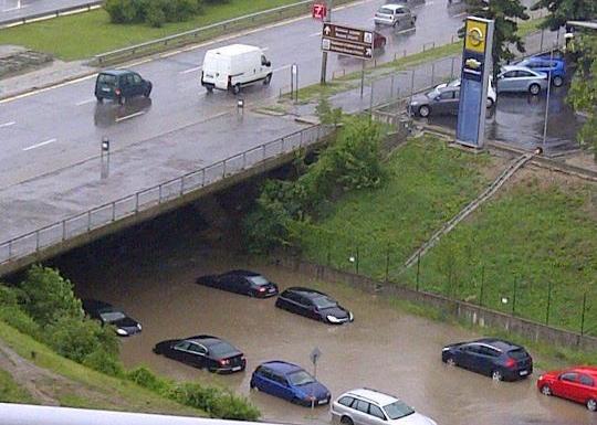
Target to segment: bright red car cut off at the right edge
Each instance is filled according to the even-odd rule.
[[[583,403],[591,412],[597,411],[597,368],[579,366],[547,372],[540,376],[537,389],[545,395],[557,395]]]

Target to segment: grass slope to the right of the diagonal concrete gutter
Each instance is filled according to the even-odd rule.
[[[578,332],[586,294],[583,330],[597,336],[596,199],[595,185],[526,178],[425,257],[421,288]]]

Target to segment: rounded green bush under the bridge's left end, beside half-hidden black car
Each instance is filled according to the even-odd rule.
[[[73,284],[57,270],[34,265],[21,281],[20,288],[27,298],[24,310],[42,327],[60,318],[83,318],[81,300],[74,295]]]

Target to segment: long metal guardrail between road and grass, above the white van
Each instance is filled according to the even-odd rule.
[[[343,2],[347,2],[346,0]],[[229,32],[231,30],[239,31],[255,26],[259,23],[265,21],[272,21],[274,19],[282,19],[284,17],[292,17],[300,12],[308,12],[312,0],[303,0],[296,3],[281,6],[274,9],[264,10],[247,14],[244,17],[229,19],[227,21],[212,23],[210,25],[201,26],[195,30],[181,32],[174,35],[168,35],[163,39],[148,41],[145,43],[132,45],[129,47],[114,50],[112,52],[102,53],[95,55],[93,62],[97,65],[115,62],[116,60],[133,57],[135,55],[143,54],[144,52],[156,50],[158,47],[166,47],[177,44],[199,42],[213,38],[220,33]]]

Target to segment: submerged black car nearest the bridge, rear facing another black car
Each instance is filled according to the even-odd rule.
[[[255,298],[268,298],[277,295],[277,285],[259,273],[249,270],[232,270],[222,275],[201,276],[197,279],[197,284]]]

